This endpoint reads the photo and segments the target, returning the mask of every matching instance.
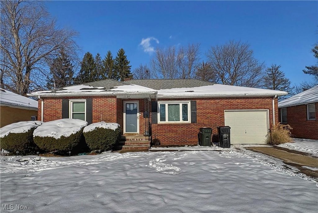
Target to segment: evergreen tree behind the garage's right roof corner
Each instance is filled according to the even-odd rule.
[[[285,74],[279,69],[280,65],[277,66],[276,64],[266,69],[263,88],[290,93],[292,90],[292,88],[290,87],[290,81],[288,78],[285,77]],[[287,96],[288,95],[282,96],[279,99],[285,99],[287,98]]]

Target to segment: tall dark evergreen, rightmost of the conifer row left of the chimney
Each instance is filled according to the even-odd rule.
[[[121,48],[117,52],[117,56],[114,62],[115,73],[118,74],[118,79],[124,81],[125,78],[131,78],[133,75],[130,72],[131,66],[129,66],[130,61],[127,60],[125,55],[125,50]]]

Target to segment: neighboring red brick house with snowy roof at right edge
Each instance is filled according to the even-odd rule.
[[[318,140],[318,85],[278,103],[279,121],[297,138]]]

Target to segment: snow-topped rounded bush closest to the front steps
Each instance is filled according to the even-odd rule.
[[[91,150],[107,151],[113,148],[119,141],[121,129],[118,123],[101,121],[85,127],[83,134]]]

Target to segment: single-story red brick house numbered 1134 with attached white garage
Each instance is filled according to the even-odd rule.
[[[162,145],[197,145],[199,128],[231,127],[231,143],[265,143],[278,121],[277,97],[286,92],[194,79],[101,80],[52,91],[39,98],[38,118],[117,122],[125,136],[148,135]]]

